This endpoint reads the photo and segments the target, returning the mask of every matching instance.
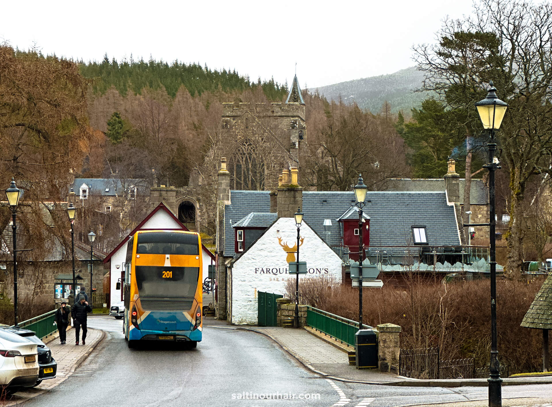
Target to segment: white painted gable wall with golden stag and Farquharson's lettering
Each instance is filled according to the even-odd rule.
[[[309,273],[299,279],[333,275],[341,282],[341,258],[312,229],[303,223],[300,236],[299,261],[307,262]],[[232,267],[232,323],[257,324],[257,292],[284,294],[288,279],[288,253],[280,246],[297,243],[297,227],[293,218],[280,218],[257,242],[237,259]],[[293,253],[295,259],[295,253]]]

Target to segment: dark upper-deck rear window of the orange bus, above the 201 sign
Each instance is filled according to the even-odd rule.
[[[199,238],[176,232],[150,232],[138,234],[138,254],[199,254]]]

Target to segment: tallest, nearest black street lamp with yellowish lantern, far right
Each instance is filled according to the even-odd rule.
[[[500,129],[502,119],[508,108],[508,104],[498,99],[496,88],[492,83],[485,99],[476,102],[477,113],[483,123],[483,127],[490,130],[490,140],[487,143],[489,150],[489,163],[484,167],[489,170],[489,224],[469,224],[468,226],[489,226],[490,238],[490,268],[491,268],[491,362],[489,382],[489,407],[502,406],[502,379],[500,378],[500,364],[498,363],[498,350],[496,346],[496,236],[495,236],[495,171],[500,169],[495,158],[496,140],[495,131]]]

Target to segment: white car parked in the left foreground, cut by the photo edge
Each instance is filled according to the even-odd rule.
[[[0,386],[8,393],[33,387],[38,379],[38,345],[0,329]]]

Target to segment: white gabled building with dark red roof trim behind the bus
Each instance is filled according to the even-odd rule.
[[[110,262],[110,304],[114,302],[123,301],[122,290],[117,290],[116,285],[117,281],[120,281],[120,278],[123,278],[123,262],[125,261],[126,256],[126,246],[128,244],[130,236],[134,235],[139,230],[185,230],[188,231],[188,228],[184,226],[181,221],[178,220],[176,216],[169,210],[163,203],[157,205],[155,209],[151,211],[149,215],[140,222],[138,226],[126,236],[123,241],[113,249],[111,253],[108,254],[104,259],[104,263]],[[203,250],[203,276],[204,278],[208,275],[207,270],[210,264],[215,264],[215,256],[211,253],[205,246],[201,246]],[[111,305],[108,305],[110,307]]]

